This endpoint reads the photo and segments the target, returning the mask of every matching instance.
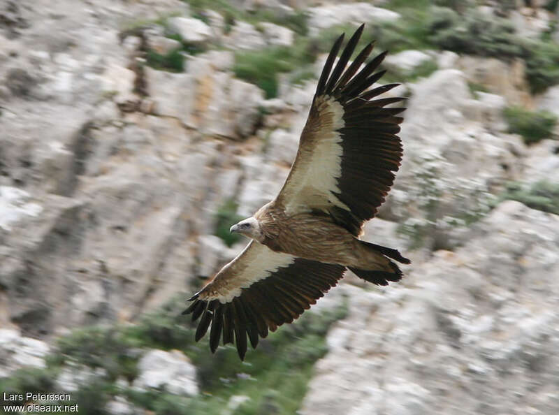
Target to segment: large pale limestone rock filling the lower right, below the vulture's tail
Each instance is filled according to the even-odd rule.
[[[552,414],[559,217],[504,202],[456,252],[351,296],[303,402],[311,414]]]

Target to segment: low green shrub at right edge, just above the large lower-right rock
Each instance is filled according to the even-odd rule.
[[[499,196],[498,203],[507,200],[518,201],[543,212],[559,214],[559,183],[542,180],[526,186],[511,182]]]

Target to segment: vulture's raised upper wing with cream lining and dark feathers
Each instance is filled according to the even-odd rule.
[[[344,35],[328,55],[314,95],[296,159],[276,203],[286,212],[328,212],[354,235],[375,216],[394,181],[402,159],[396,135],[405,108],[384,108],[403,98],[375,99],[399,84],[368,90],[385,71],[375,73],[386,56],[379,54],[359,68],[372,51],[367,45],[347,68],[363,25],[347,43],[332,70]]]

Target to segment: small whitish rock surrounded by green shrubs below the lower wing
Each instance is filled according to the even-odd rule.
[[[163,388],[175,395],[198,394],[196,367],[180,351],[147,351],[138,362],[138,371],[133,384],[138,391]]]

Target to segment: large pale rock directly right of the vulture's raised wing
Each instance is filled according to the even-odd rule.
[[[492,195],[519,177],[523,144],[498,126],[486,129],[484,117],[498,109],[472,100],[460,71],[437,71],[413,85],[408,104],[400,133],[406,156],[381,212],[426,246],[449,248],[458,242],[453,228],[483,214]]]

